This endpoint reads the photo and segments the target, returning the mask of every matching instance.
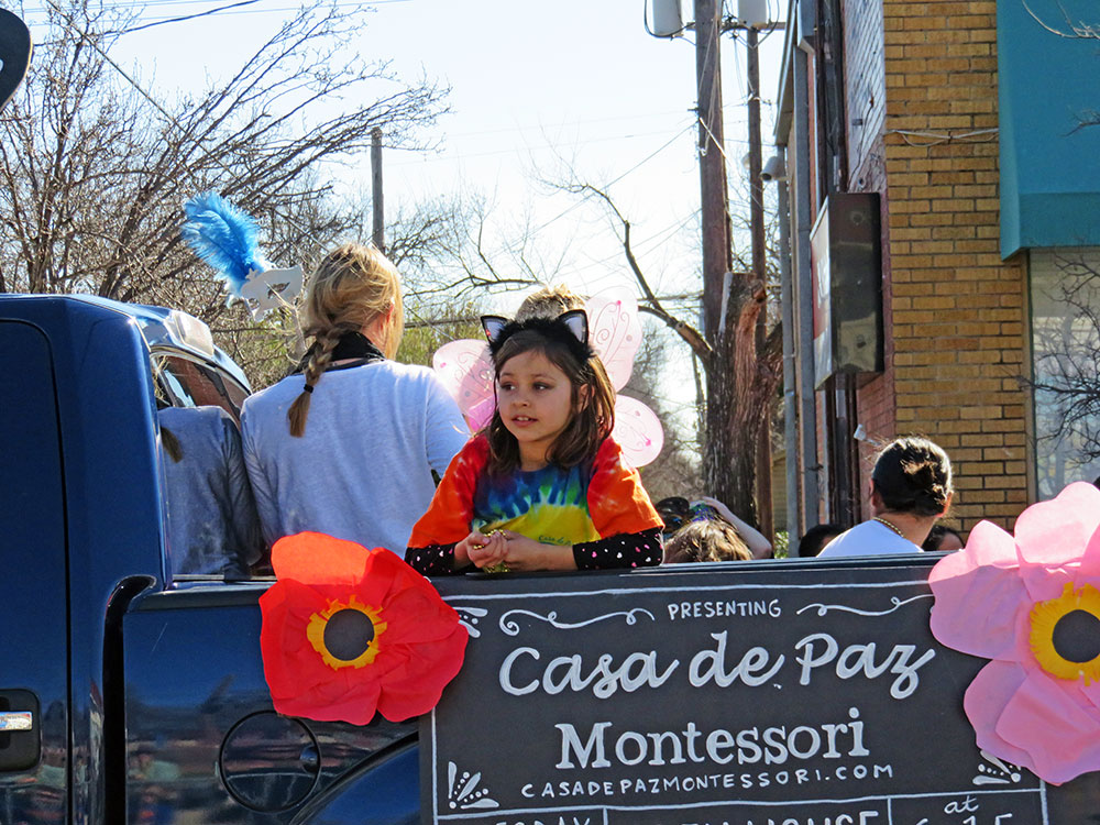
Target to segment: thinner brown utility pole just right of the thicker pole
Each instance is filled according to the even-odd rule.
[[[749,85],[749,231],[752,240],[752,279],[763,286],[767,283],[763,239],[763,178],[760,172],[763,160],[760,148],[760,50],[759,32],[754,22],[749,21],[745,32],[746,74]],[[767,293],[765,293],[767,296]],[[768,337],[768,302],[760,308],[757,318],[756,343],[757,352],[761,352]],[[763,427],[756,454],[757,512],[760,518],[760,532],[774,540],[774,518],[771,506],[771,421]]]

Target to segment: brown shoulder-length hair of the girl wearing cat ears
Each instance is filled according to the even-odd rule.
[[[603,362],[593,355],[581,363],[564,342],[525,329],[509,336],[493,356],[497,380],[504,365],[525,352],[543,355],[565,373],[572,386],[573,416],[550,448],[547,460],[563,468],[591,461],[615,427],[615,388]],[[582,392],[582,387],[587,391]],[[507,473],[518,468],[519,442],[504,426],[499,408],[493,411],[484,432],[490,447],[488,472]]]

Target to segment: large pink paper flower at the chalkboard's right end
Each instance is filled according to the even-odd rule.
[[[932,632],[992,661],[963,706],[978,747],[1053,784],[1100,770],[1100,490],[989,521],[928,576]]]

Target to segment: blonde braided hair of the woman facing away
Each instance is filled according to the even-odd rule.
[[[306,432],[310,396],[340,337],[359,332],[389,312],[393,315],[386,340],[372,343],[381,343],[383,354],[392,359],[405,329],[397,270],[377,249],[361,243],[345,243],[324,256],[310,279],[306,298],[304,332],[314,342],[306,358],[306,387],[286,416],[292,436],[301,438]]]

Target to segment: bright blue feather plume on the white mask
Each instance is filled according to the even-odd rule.
[[[234,295],[241,295],[249,275],[271,268],[256,246],[256,222],[218,193],[191,198],[184,204],[184,211],[187,222],[180,235],[226,278]]]

